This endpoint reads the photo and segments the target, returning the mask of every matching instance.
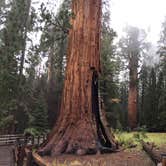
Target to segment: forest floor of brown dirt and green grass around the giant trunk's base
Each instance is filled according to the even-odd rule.
[[[141,141],[154,142],[166,149],[166,133],[115,132],[124,150],[117,153],[73,156],[62,155],[54,159],[44,157],[51,166],[155,166],[150,157],[142,150]]]

